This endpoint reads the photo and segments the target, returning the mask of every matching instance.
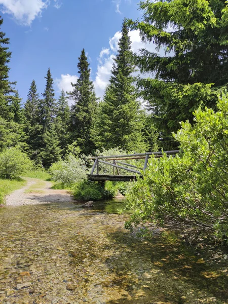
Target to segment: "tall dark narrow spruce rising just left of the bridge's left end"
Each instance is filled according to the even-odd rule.
[[[95,148],[91,130],[97,98],[93,82],[90,81],[90,68],[84,49],[79,57],[78,68],[79,79],[76,84],[71,84],[73,91],[69,93],[74,102],[71,107],[71,141],[77,141],[82,153],[88,155]]]

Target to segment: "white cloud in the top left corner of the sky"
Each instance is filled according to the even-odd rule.
[[[49,0],[0,0],[0,10],[23,25],[31,25],[49,5]]]

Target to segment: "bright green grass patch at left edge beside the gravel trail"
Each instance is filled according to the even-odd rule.
[[[3,179],[0,178],[0,204],[4,203],[6,195],[10,194],[14,190],[20,189],[26,185],[26,180],[22,178],[17,179]]]

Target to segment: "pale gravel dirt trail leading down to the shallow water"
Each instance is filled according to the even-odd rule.
[[[72,196],[66,190],[51,189],[52,183],[36,178],[27,178],[26,186],[6,198],[7,206],[38,205],[53,202],[70,202]]]

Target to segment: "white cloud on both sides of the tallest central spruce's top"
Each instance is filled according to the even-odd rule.
[[[150,52],[156,52],[156,46],[154,44],[143,44],[141,42],[139,31],[132,30],[129,32],[129,34],[131,37],[131,48],[133,52],[137,53],[139,49],[143,48],[146,48]],[[100,52],[100,56],[98,58],[96,79],[94,82],[95,91],[98,97],[103,96],[104,90],[108,85],[111,74],[111,68],[114,62],[113,58],[115,57],[118,51],[118,43],[121,38],[121,35],[122,34],[120,31],[116,32],[115,35],[109,39],[109,48],[103,48]]]

